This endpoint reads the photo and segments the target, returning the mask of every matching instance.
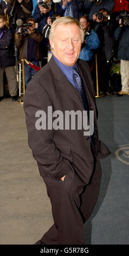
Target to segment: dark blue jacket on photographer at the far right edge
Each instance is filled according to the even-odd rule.
[[[118,59],[129,60],[129,26],[119,26],[115,29],[114,38],[120,39]]]

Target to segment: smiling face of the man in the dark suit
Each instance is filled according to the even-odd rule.
[[[75,23],[57,24],[50,39],[54,56],[66,66],[74,66],[81,50],[81,32]]]

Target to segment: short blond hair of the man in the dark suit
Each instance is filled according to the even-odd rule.
[[[79,27],[80,29],[80,34],[81,34],[81,41],[83,42],[84,40],[84,32],[83,32],[83,28],[80,25],[80,22],[76,19],[74,19],[73,17],[69,17],[69,16],[65,16],[65,17],[60,17],[59,19],[56,19],[50,29],[50,34],[49,34],[49,39],[51,39],[52,41],[54,40],[54,32],[55,32],[55,28],[58,24],[66,24],[69,25],[69,23],[73,23],[76,24],[76,26]]]

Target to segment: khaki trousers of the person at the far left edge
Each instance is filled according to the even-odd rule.
[[[14,66],[8,66],[7,68],[0,68],[0,97],[4,95],[4,86],[3,86],[3,75],[7,76],[8,85],[9,85],[9,94],[10,96],[17,95],[17,82]]]

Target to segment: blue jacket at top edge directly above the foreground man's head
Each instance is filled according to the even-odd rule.
[[[72,7],[73,17],[78,20],[82,16],[82,10],[83,10],[82,0],[72,0],[70,4]],[[62,0],[60,5],[61,5],[61,11],[64,14],[66,9],[64,10],[62,9]]]

